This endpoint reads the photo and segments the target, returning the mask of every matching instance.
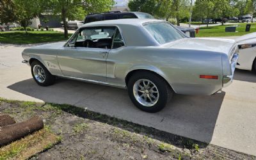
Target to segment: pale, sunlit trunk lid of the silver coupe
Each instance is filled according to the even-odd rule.
[[[220,38],[183,38],[175,42],[164,44],[163,47],[171,47],[175,49],[189,49],[200,51],[214,51],[230,54],[236,45],[235,40]]]

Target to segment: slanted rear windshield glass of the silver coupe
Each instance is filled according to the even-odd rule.
[[[167,22],[145,24],[144,27],[159,44],[166,44],[186,37]]]

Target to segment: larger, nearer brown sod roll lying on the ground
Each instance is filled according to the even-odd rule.
[[[5,125],[0,128],[0,147],[19,140],[28,134],[44,128],[44,122],[39,116],[35,116],[25,122]]]

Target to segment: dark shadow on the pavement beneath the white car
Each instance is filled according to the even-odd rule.
[[[239,81],[256,83],[256,73],[253,71],[239,70],[236,68],[234,79]]]

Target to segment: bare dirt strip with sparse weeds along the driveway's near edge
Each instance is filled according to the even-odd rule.
[[[61,143],[32,159],[254,159],[75,106],[0,99],[17,122],[40,115]]]

